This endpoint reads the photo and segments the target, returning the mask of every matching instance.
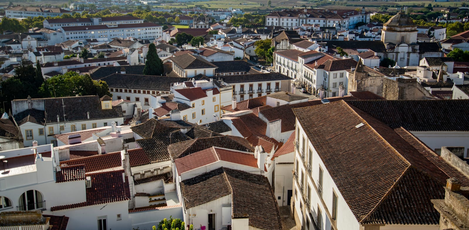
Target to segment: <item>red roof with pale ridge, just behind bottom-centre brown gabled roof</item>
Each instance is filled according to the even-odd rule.
[[[257,168],[257,159],[254,158],[254,154],[219,147],[211,147],[197,153],[191,153],[185,157],[177,158],[174,160],[174,163],[178,175],[181,175],[192,169],[197,169],[217,161],[227,161]]]

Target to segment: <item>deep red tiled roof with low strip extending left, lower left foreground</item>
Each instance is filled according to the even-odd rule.
[[[117,170],[87,174],[91,177],[91,187],[86,188],[86,201],[51,207],[51,212],[130,199],[129,180],[125,176],[124,181],[122,178],[123,173],[124,170]]]

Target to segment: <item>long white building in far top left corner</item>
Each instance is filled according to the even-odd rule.
[[[61,8],[45,7],[14,7],[5,10],[5,16],[9,18],[27,18],[37,16],[55,17],[63,14],[72,14],[72,12]]]

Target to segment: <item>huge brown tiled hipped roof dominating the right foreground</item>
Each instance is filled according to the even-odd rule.
[[[438,165],[442,162],[435,160],[439,156],[406,130],[392,129],[351,102],[341,100],[294,112],[300,125],[307,127],[308,139],[356,220],[362,224],[438,224],[439,213],[430,199],[444,197],[442,186],[453,170],[442,169]],[[311,115],[322,119],[310,119]],[[354,140],[352,145],[349,140]],[[343,157],[334,158],[337,152]],[[456,177],[461,184],[469,184],[462,174]]]

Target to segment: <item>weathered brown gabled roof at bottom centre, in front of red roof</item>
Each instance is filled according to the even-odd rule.
[[[249,216],[249,225],[257,229],[282,229],[280,210],[265,176],[219,168],[182,181],[181,190],[186,209],[231,194],[233,216]]]

